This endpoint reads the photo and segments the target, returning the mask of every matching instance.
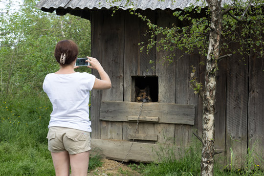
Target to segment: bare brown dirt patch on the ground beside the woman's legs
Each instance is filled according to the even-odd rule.
[[[102,159],[102,166],[89,172],[87,176],[141,176],[126,164],[110,159]]]

